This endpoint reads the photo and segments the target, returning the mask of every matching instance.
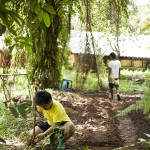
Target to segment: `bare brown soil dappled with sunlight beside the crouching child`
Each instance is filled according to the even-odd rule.
[[[82,150],[88,146],[88,150],[112,150],[145,138],[143,133],[150,133],[150,120],[141,111],[112,119],[142,96],[142,92],[121,93],[118,102],[110,101],[108,92],[53,93],[52,97],[63,104],[76,126],[75,136],[68,140],[66,149]],[[19,149],[19,146],[7,146],[7,149]],[[145,150],[141,146],[127,149]]]

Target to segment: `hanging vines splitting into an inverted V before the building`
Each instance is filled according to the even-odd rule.
[[[98,54],[95,49],[94,37],[92,33],[92,20],[91,20],[91,4],[89,0],[84,0],[85,5],[85,18],[86,18],[86,44],[83,55],[79,57],[79,64],[76,72],[76,82],[80,83],[80,88],[83,88],[88,74],[93,69],[95,64],[98,77],[98,85],[101,89],[104,89],[102,80],[100,79],[100,65],[98,63]],[[92,46],[90,46],[92,45]],[[93,54],[94,57],[93,58]]]

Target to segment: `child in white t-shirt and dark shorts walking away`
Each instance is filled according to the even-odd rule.
[[[108,71],[108,82],[109,82],[109,89],[111,94],[111,100],[113,100],[113,87],[116,88],[117,98],[118,101],[120,100],[119,94],[119,79],[120,79],[120,68],[121,63],[119,60],[116,60],[116,54],[114,52],[110,53],[111,61],[108,64],[109,71]]]

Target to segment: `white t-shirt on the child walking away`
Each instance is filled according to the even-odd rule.
[[[119,68],[121,67],[121,63],[119,60],[111,60],[108,64],[111,68],[110,77],[118,78],[119,77]]]

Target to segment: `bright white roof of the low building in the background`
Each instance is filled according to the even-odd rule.
[[[95,42],[95,52],[109,55],[113,50],[104,34],[100,32],[92,32],[92,34]],[[88,53],[94,54],[90,33],[88,33],[88,37],[90,47]],[[120,39],[122,39],[119,40],[120,56],[150,58],[150,35],[140,35],[138,37],[121,36]],[[111,36],[109,40],[114,47],[114,37]],[[69,47],[72,53],[85,53],[86,32],[72,30]]]

